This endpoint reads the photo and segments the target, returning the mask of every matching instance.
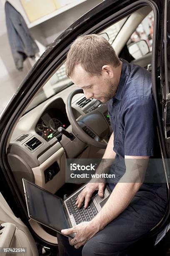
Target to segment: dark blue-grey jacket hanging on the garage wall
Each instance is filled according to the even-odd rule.
[[[30,35],[23,16],[8,1],[5,3],[5,16],[15,66],[18,70],[22,70],[23,61],[27,57],[34,58],[39,49]]]

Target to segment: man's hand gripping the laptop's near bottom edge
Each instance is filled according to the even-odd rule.
[[[65,235],[76,233],[73,239],[69,238],[69,243],[78,249],[80,246],[83,246],[90,238],[92,238],[98,231],[99,228],[93,225],[92,221],[85,221],[73,228],[63,229],[61,230],[61,233]]]

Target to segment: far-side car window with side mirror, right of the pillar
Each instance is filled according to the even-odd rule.
[[[152,52],[153,44],[153,11],[139,24],[127,43],[129,53],[134,59],[140,59]]]

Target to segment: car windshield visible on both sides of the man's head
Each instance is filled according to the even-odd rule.
[[[109,28],[106,28],[104,31],[100,33],[100,35],[105,37],[110,42],[110,44],[112,44],[126,20],[127,17],[113,24]],[[35,108],[37,105],[40,105],[40,103],[49,99],[58,92],[64,90],[71,84],[73,84],[72,81],[65,74],[65,64],[62,64],[62,66],[57,70],[57,72],[53,74],[53,76],[37,93],[37,95],[34,97],[28,108],[25,110],[25,113],[27,113],[32,108]]]

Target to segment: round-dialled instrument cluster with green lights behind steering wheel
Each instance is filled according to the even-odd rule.
[[[61,136],[57,131],[58,127],[66,129],[69,125],[70,122],[60,109],[51,108],[40,117],[35,126],[35,132],[46,141],[50,141],[54,136],[57,138]]]

